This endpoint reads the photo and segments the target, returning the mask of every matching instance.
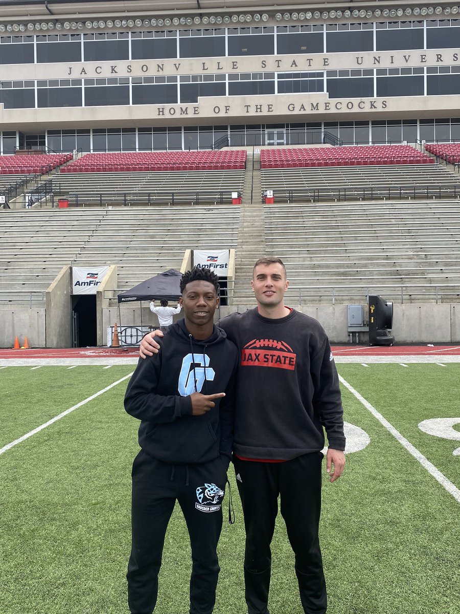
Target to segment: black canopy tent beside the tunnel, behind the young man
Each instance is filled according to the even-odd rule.
[[[118,295],[120,333],[122,332],[120,303],[140,301],[140,328],[142,336],[142,301],[160,300],[161,298],[166,298],[168,301],[178,300],[181,295],[180,278],[182,278],[182,273],[180,273],[180,271],[169,269],[169,271],[164,271],[164,273],[159,273],[150,279],[146,279],[130,290],[121,292]],[[121,337],[123,338],[123,336],[124,335],[122,334]],[[121,344],[130,345],[129,343],[123,343],[123,341]],[[137,345],[137,343],[132,345]]]

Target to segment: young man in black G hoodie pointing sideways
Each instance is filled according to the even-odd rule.
[[[162,351],[139,360],[125,395],[140,419],[142,448],[132,465],[131,614],[151,614],[164,537],[176,500],[190,534],[190,614],[211,614],[220,567],[217,542],[231,460],[236,346],[213,325],[218,278],[194,268],[182,276],[184,319]]]

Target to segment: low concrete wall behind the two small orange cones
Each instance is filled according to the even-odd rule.
[[[16,336],[23,346],[26,335],[31,348],[44,348],[45,313],[44,308],[0,309],[0,348],[12,348]]]

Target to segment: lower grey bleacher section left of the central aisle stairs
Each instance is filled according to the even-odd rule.
[[[0,222],[0,307],[39,307],[65,265],[116,264],[126,290],[179,269],[186,249],[234,248],[239,207],[31,209]]]

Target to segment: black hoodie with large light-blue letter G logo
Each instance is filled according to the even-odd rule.
[[[139,445],[159,461],[191,464],[224,455],[231,459],[236,346],[214,327],[205,340],[194,339],[185,322],[169,328],[158,354],[139,359],[129,380],[125,410],[142,422]],[[226,396],[203,416],[192,415],[193,392]]]

